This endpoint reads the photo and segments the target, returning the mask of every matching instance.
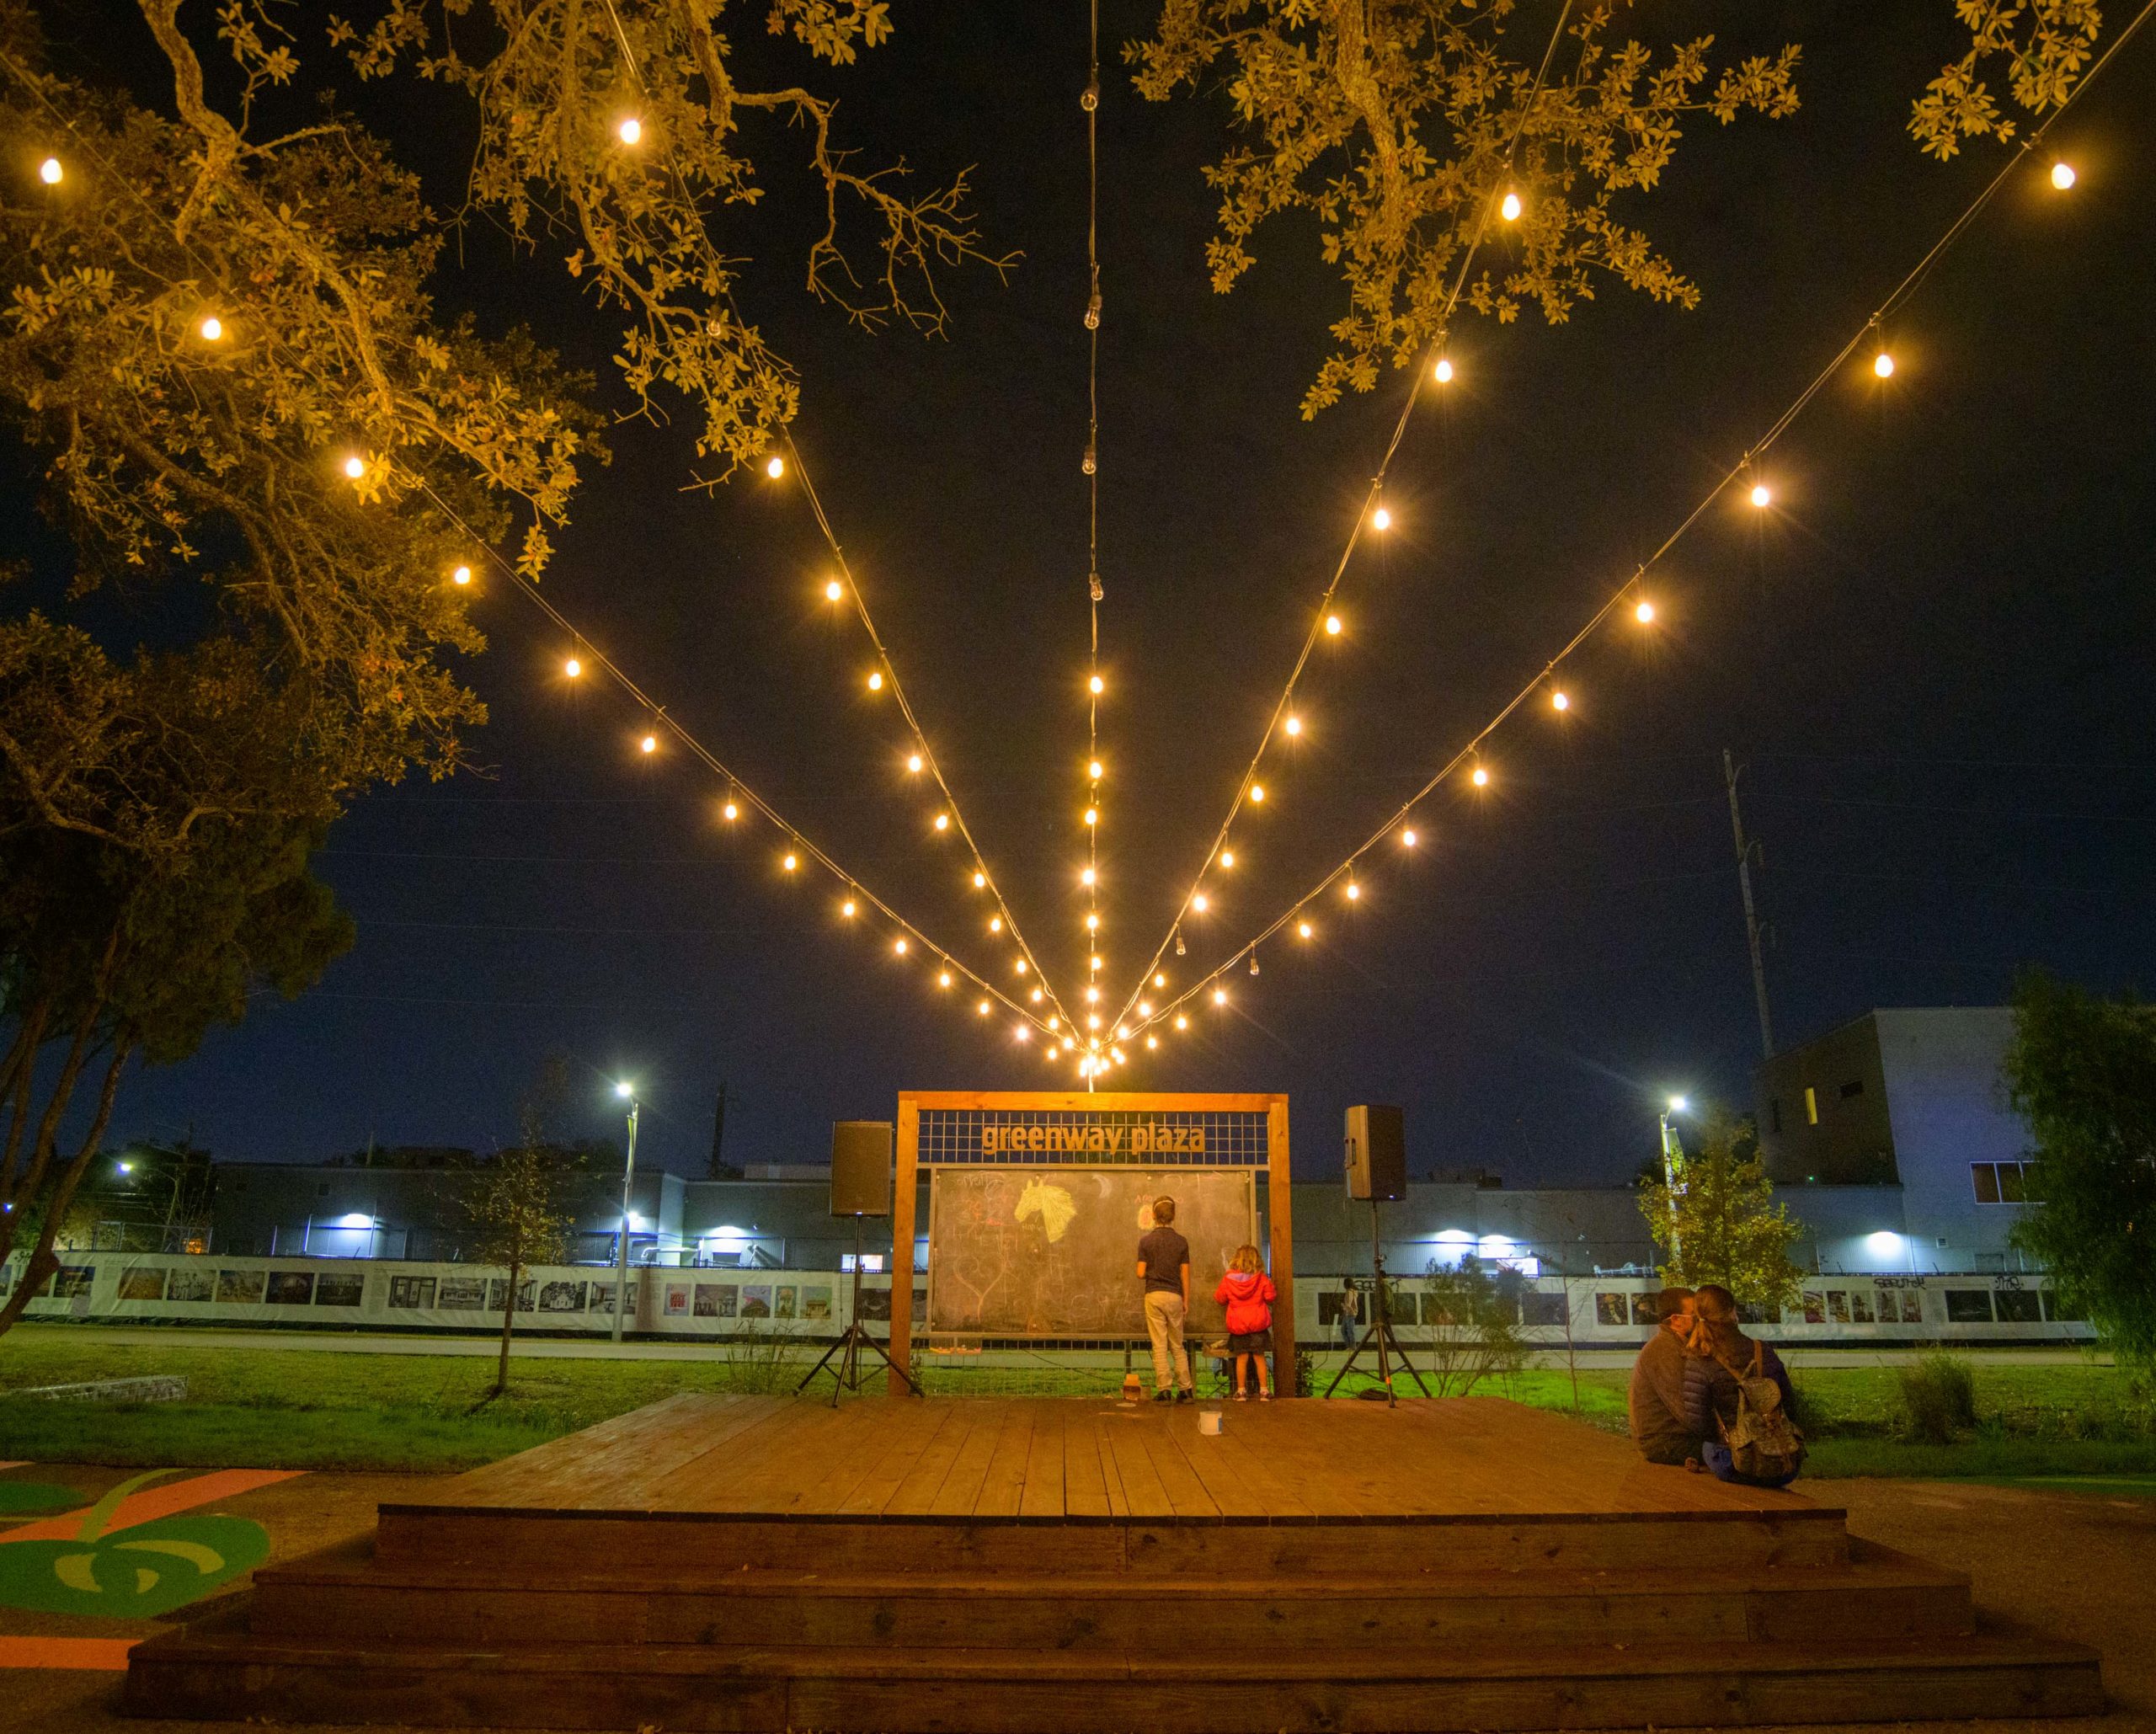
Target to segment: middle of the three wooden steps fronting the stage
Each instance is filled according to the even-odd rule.
[[[250,1628],[338,1643],[731,1643],[1125,1650],[1268,1646],[1729,1641],[1953,1637],[1968,1579],[1858,1544],[1846,1566],[1766,1572],[1414,1577],[938,1577],[681,1572],[505,1577],[502,1568],[300,1564],[254,1577]]]

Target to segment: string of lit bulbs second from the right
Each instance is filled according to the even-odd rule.
[[[1095,0],[1097,6],[1097,0]],[[1481,244],[1490,233],[1490,218],[1501,216],[1511,222],[1520,214],[1518,196],[1511,192],[1514,164],[1520,151],[1520,138],[1526,134],[1526,123],[1533,119],[1535,106],[1542,101],[1542,91],[1550,80],[1550,63],[1557,58],[1557,45],[1565,39],[1565,24],[1572,17],[1572,0],[1565,0],[1557,9],[1557,24],[1550,26],[1550,41],[1542,50],[1542,65],[1535,69],[1535,82],[1529,88],[1520,112],[1514,116],[1511,136],[1505,142],[1505,153],[1498,157],[1490,183],[1481,192],[1479,209],[1475,216],[1475,233],[1468,237],[1466,250],[1460,254],[1460,270],[1453,272],[1451,289],[1445,295],[1445,311],[1438,315],[1438,334],[1434,341],[1432,356],[1416,360],[1408,377],[1408,395],[1399,405],[1399,414],[1393,418],[1393,431],[1384,442],[1384,451],[1378,457],[1378,468],[1369,479],[1369,487],[1363,492],[1363,505],[1356,509],[1354,524],[1348,528],[1348,541],[1341,546],[1339,559],[1332,563],[1332,576],[1326,580],[1324,591],[1317,597],[1317,608],[1311,615],[1311,625],[1302,634],[1302,647],[1296,651],[1296,660],[1287,671],[1287,682],[1281,688],[1281,697],[1272,705],[1272,714],[1266,718],[1266,727],[1259,731],[1257,748],[1250,753],[1250,761],[1242,770],[1242,779],[1235,783],[1235,794],[1229,798],[1227,817],[1220,820],[1220,828],[1214,830],[1212,841],[1205,848],[1205,856],[1199,863],[1199,871],[1192,876],[1184,891],[1184,899],[1175,910],[1175,919],[1169,923],[1169,932],[1153,947],[1153,955],[1147,958],[1145,968],[1138,971],[1130,994],[1123,999],[1123,1007],[1117,1012],[1117,1022],[1125,1022],[1132,1009],[1145,996],[1145,988],[1160,975],[1160,964],[1169,953],[1169,947],[1181,938],[1184,923],[1190,919],[1192,910],[1205,912],[1205,876],[1214,865],[1229,865],[1231,856],[1225,854],[1229,832],[1235,820],[1242,817],[1244,807],[1250,802],[1263,802],[1263,783],[1257,781],[1259,766],[1266,753],[1272,748],[1274,740],[1285,731],[1287,735],[1302,733],[1302,720],[1294,716],[1291,705],[1296,701],[1296,684],[1302,679],[1302,671],[1311,662],[1311,653],[1317,649],[1322,638],[1341,636],[1341,617],[1332,610],[1332,600],[1339,593],[1341,582],[1348,578],[1348,567],[1354,561],[1356,548],[1363,541],[1365,526],[1384,535],[1391,524],[1391,509],[1384,505],[1384,479],[1393,468],[1393,457],[1399,453],[1401,440],[1408,438],[1408,423],[1414,418],[1414,405],[1421,403],[1423,384],[1436,382],[1445,384],[1453,377],[1453,364],[1447,356],[1447,332],[1455,308],[1460,306],[1460,295],[1466,289],[1468,272],[1475,267],[1475,257],[1481,252]],[[1423,364],[1427,360],[1427,367]],[[1091,446],[1089,446],[1091,451]],[[1235,962],[1248,955],[1240,951]]]

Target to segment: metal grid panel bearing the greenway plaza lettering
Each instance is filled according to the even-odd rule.
[[[1266,1115],[1151,1109],[923,1109],[921,1165],[1266,1167]]]

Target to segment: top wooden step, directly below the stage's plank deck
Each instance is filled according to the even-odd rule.
[[[824,1518],[384,1505],[382,1561],[558,1570],[666,1561],[733,1572],[1423,1574],[1485,1570],[1740,1570],[1846,1564],[1843,1512],[1557,1512],[1404,1518]]]

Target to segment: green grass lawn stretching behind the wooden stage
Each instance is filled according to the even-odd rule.
[[[2156,1443],[2078,1439],[2081,1426],[2046,1417],[2117,1413],[2124,1378],[2096,1365],[1975,1365],[1977,1413],[2022,1417],[1955,1445],[1897,1439],[1895,1367],[1798,1372],[1811,1436],[1807,1473],[1984,1477],[2029,1484],[2102,1475],[2119,1486],[2156,1480]],[[1143,1357],[1141,1357],[1143,1361]],[[677,1391],[791,1391],[806,1363],[774,1363],[752,1348],[716,1346],[701,1361],[520,1359],[505,1398],[489,1398],[492,1357],[341,1354],[317,1348],[205,1348],[41,1339],[37,1326],[0,1337],[0,1456],[28,1462],[192,1464],[248,1469],[451,1471],[511,1456]],[[179,1374],[188,1402],[4,1402],[9,1389],[132,1374]],[[934,1395],[1108,1395],[1117,1367],[981,1365],[921,1357]],[[1147,1374],[1149,1376],[1149,1374]],[[1332,1367],[1317,1361],[1319,1391]],[[1348,1398],[1371,1387],[1356,1372]],[[1578,1415],[1623,1432],[1623,1370],[1537,1367],[1485,1380],[1481,1395]],[[1395,1378],[1395,1391],[1412,1391]],[[1207,1395],[1220,1395],[1207,1391]],[[2033,1419],[2031,1419],[2033,1417]],[[2033,1436],[2031,1436],[2033,1434]]]

